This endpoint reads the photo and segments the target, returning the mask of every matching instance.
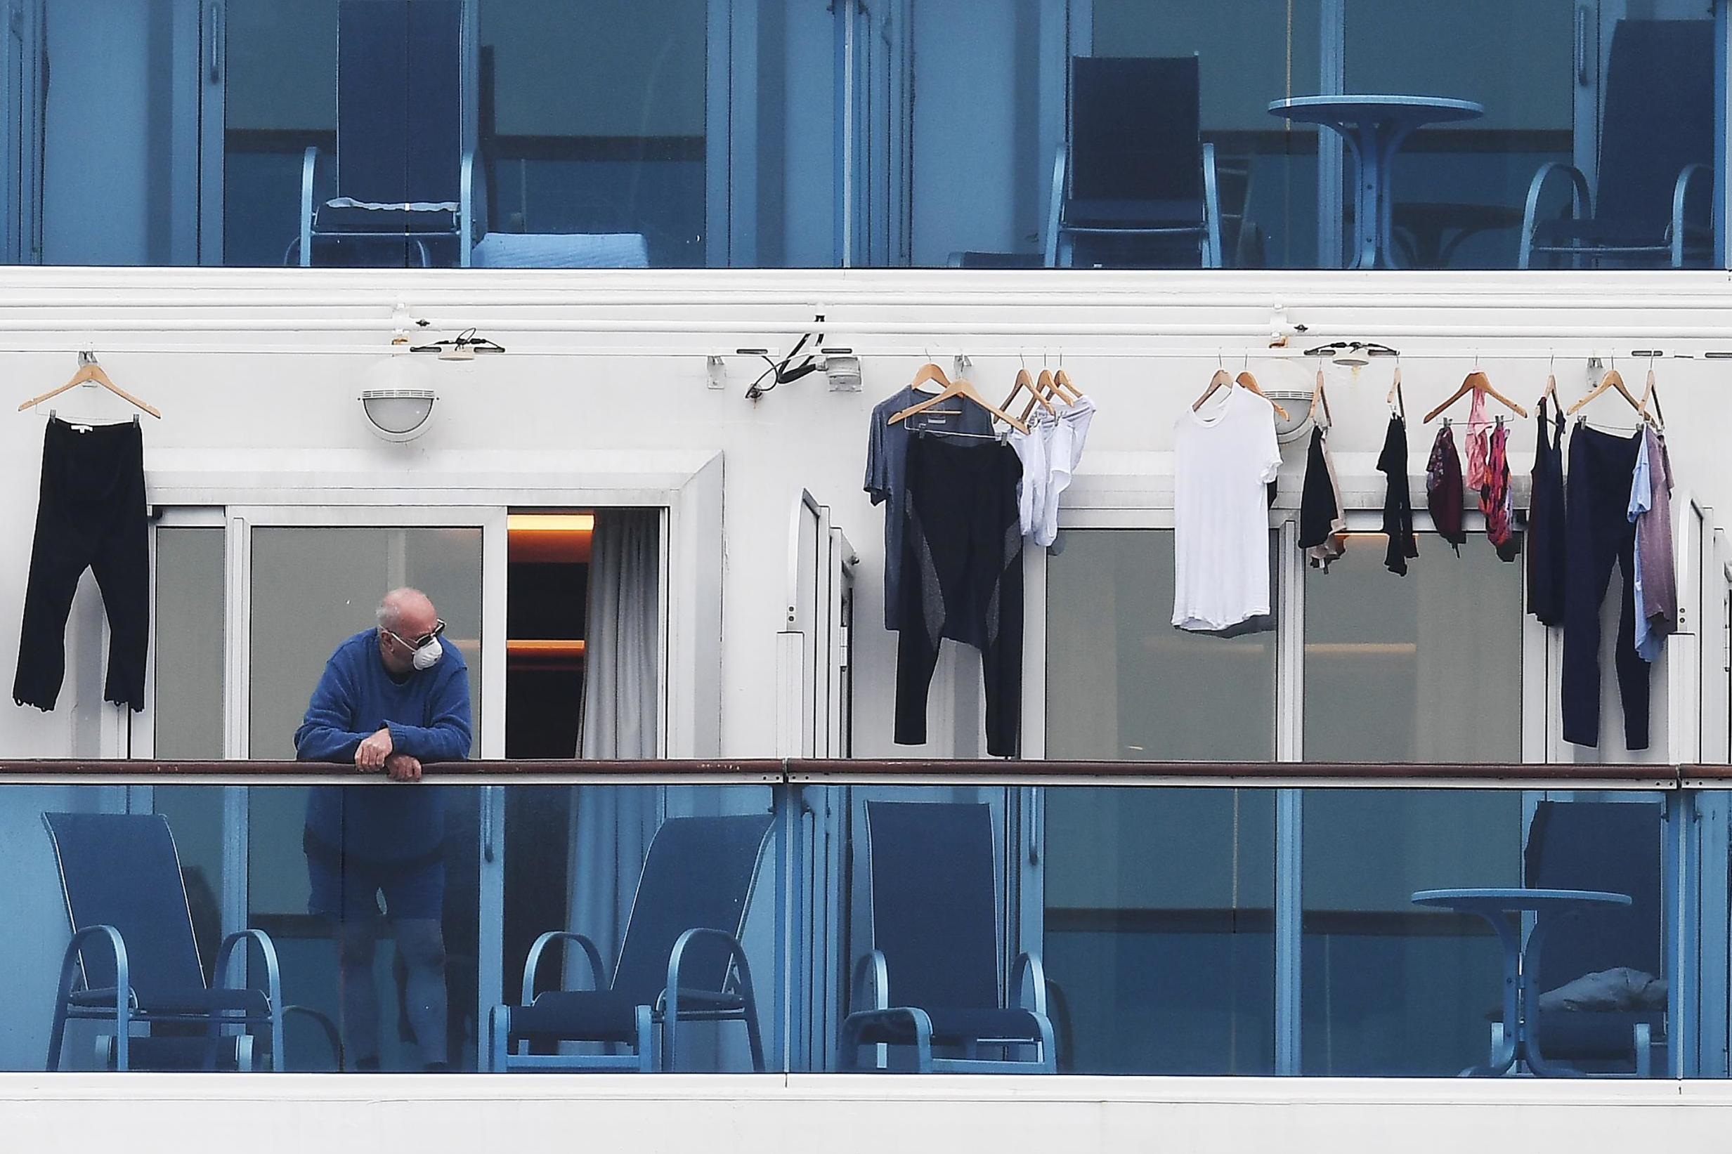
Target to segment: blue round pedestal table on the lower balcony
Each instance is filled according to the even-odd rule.
[[[1415,905],[1436,905],[1462,914],[1477,914],[1491,922],[1503,945],[1503,1050],[1493,1054],[1484,1066],[1470,1066],[1462,1076],[1502,1074],[1522,1062],[1535,1074],[1569,1074],[1567,1067],[1548,1066],[1540,1052],[1536,1023],[1540,1017],[1540,991],[1535,974],[1540,969],[1540,946],[1545,931],[1554,924],[1595,905],[1630,905],[1630,894],[1604,889],[1420,889]],[[1533,914],[1528,931],[1528,948],[1522,950],[1521,929],[1510,926],[1509,914]]]

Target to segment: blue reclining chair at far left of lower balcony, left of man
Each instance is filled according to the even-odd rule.
[[[282,979],[262,929],[223,938],[213,972],[237,945],[258,943],[265,990],[204,984],[180,856],[156,813],[43,813],[66,889],[73,939],[48,1035],[48,1069],[61,1067],[68,1021],[114,1026],[97,1043],[114,1069],[249,1069],[253,1035],[267,1035],[270,1069],[282,1069]],[[132,1036],[133,1024],[152,1036]],[[168,1029],[158,1024],[173,1023]],[[204,1031],[187,1024],[204,1026]],[[230,1033],[239,1029],[241,1033]]]

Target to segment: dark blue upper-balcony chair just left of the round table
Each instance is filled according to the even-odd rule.
[[[1195,55],[1070,57],[1046,266],[1221,266],[1214,145]],[[1081,254],[1079,254],[1081,240]]]

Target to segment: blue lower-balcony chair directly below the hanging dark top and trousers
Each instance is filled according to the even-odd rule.
[[[842,1023],[840,1067],[856,1069],[863,1045],[883,1045],[887,1055],[913,1047],[920,1073],[1055,1073],[1037,955],[1017,957],[1015,1002],[1003,998],[991,808],[869,801],[866,837],[873,948],[854,967],[854,993],[869,978],[871,1003]],[[980,1057],[980,1047],[1003,1057]],[[1032,1059],[1020,1057],[1027,1047]]]

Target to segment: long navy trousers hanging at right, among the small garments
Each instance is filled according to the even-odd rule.
[[[1649,664],[1635,651],[1635,526],[1630,483],[1637,438],[1576,426],[1569,434],[1569,491],[1564,502],[1567,587],[1564,590],[1564,740],[1600,744],[1600,602],[1612,566],[1623,569],[1618,612],[1618,696],[1625,747],[1647,749]]]

